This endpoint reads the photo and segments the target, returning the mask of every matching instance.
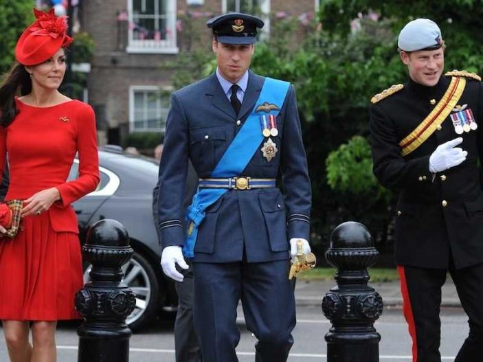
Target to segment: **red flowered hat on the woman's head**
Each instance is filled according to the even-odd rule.
[[[15,58],[23,65],[45,62],[60,47],[68,47],[73,38],[65,34],[66,16],[55,16],[54,9],[43,12],[34,9],[36,21],[25,29],[16,42]]]

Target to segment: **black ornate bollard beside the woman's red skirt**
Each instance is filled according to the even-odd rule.
[[[92,264],[91,282],[76,294],[84,317],[78,328],[78,362],[128,362],[131,330],[126,317],[135,295],[122,282],[121,267],[133,255],[126,228],[116,220],[100,220],[87,231],[82,255]]]

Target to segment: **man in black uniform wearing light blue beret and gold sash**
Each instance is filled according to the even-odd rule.
[[[467,71],[442,74],[445,45],[429,19],[398,38],[409,71],[372,98],[374,174],[401,192],[394,236],[414,362],[440,362],[441,286],[447,271],[469,317],[456,362],[483,356],[483,84]]]

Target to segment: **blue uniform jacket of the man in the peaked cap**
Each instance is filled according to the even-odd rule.
[[[159,165],[163,247],[182,246],[185,241],[183,192],[188,158],[199,177],[210,177],[254,108],[264,81],[249,71],[238,117],[215,74],[172,94]],[[308,240],[311,184],[293,86],[277,117],[277,127],[278,136],[271,136],[278,148],[276,157],[269,162],[262,156],[265,137],[240,176],[275,179],[281,175],[284,194],[278,188],[226,192],[206,210],[194,262],[236,262],[244,253],[248,262],[282,260],[289,258],[289,238]]]

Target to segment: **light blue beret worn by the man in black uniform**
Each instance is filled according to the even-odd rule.
[[[441,30],[429,19],[409,21],[399,33],[398,48],[405,52],[434,50],[442,45]]]

